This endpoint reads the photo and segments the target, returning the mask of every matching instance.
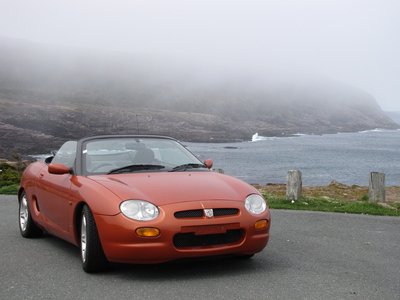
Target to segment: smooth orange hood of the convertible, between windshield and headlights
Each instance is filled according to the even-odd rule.
[[[154,172],[89,176],[121,200],[147,200],[155,205],[202,200],[243,201],[258,193],[249,184],[215,172]]]

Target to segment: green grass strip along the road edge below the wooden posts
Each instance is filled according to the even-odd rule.
[[[338,200],[329,197],[302,197],[298,201],[292,203],[283,196],[277,196],[266,192],[263,194],[265,199],[267,199],[269,207],[275,209],[400,216],[400,203],[385,203],[384,205],[369,203],[365,197],[359,201]]]

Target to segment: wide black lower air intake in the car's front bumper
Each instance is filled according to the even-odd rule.
[[[190,233],[178,233],[174,236],[176,248],[207,247],[237,243],[242,239],[241,229],[227,230],[226,233],[195,235]]]

